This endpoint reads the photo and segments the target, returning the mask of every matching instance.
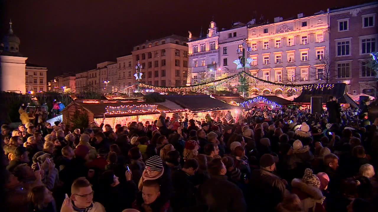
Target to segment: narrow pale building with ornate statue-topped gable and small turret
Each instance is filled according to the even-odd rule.
[[[217,24],[210,22],[208,34],[199,38],[192,37],[189,31],[189,74],[187,85],[197,84],[204,81],[215,80],[217,74],[220,74],[219,64],[219,32]]]

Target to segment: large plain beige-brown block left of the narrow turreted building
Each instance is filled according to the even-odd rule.
[[[132,57],[134,66],[132,75],[135,74],[138,61],[143,66],[141,82],[154,86],[185,86],[188,72],[186,37],[170,35],[156,40],[147,40],[145,43],[134,46]],[[135,82],[133,78],[132,83]]]

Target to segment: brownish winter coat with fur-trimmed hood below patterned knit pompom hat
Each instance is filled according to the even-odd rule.
[[[306,212],[325,212],[323,206],[325,197],[323,197],[322,191],[319,188],[307,184],[298,178],[294,178],[291,181],[291,186],[293,187],[291,192],[298,195],[299,199],[301,199],[302,207]]]

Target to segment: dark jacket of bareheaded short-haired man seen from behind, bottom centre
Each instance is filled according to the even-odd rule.
[[[211,176],[200,186],[200,200],[211,212],[244,212],[246,203],[240,188],[227,180],[226,175]]]

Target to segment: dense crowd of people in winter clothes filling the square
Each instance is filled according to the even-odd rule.
[[[359,212],[377,206],[378,118],[251,108],[127,126],[2,126],[6,211]],[[21,109],[25,110],[25,106]],[[335,110],[335,111],[334,111]],[[20,113],[21,114],[21,113]],[[336,114],[336,115],[335,115]]]

